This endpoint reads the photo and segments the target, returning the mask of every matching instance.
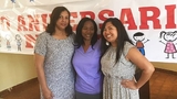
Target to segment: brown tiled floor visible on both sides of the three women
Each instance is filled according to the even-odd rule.
[[[40,99],[38,80],[32,79],[0,92],[3,99]],[[0,98],[0,99],[1,99]],[[156,69],[150,78],[150,99],[177,99],[177,73]]]

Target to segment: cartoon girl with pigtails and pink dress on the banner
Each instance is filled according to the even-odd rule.
[[[160,40],[159,42],[165,45],[164,53],[167,54],[166,58],[169,58],[169,54],[171,54],[171,58],[175,58],[174,54],[177,53],[177,50],[175,46],[177,45],[177,43],[175,43],[177,42],[177,31],[174,31],[174,32],[162,31],[159,37],[165,41],[163,42]]]

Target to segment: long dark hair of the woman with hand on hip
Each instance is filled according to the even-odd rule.
[[[101,50],[102,50],[102,56],[104,55],[104,53],[107,51],[107,48],[111,46],[111,44],[107,46],[106,45],[106,40],[103,36],[103,32],[105,29],[105,25],[107,22],[111,22],[117,30],[117,45],[116,45],[116,62],[119,61],[121,55],[123,53],[124,50],[124,45],[125,42],[129,42],[131,44],[133,44],[133,42],[131,41],[131,38],[128,37],[128,34],[123,25],[123,23],[117,19],[117,18],[108,18],[102,25],[101,29],[101,36],[102,36],[102,44],[101,44]]]

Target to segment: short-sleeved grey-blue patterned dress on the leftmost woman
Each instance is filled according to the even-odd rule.
[[[54,95],[53,99],[74,99],[74,72],[71,58],[74,52],[74,35],[56,40],[49,33],[41,33],[34,52],[45,57],[44,74],[46,84]],[[41,94],[41,99],[43,96]]]

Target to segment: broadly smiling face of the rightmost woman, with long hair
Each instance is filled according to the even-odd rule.
[[[118,33],[117,33],[117,29],[112,24],[112,22],[107,22],[105,24],[103,36],[113,46],[116,46],[116,40],[117,40]]]

